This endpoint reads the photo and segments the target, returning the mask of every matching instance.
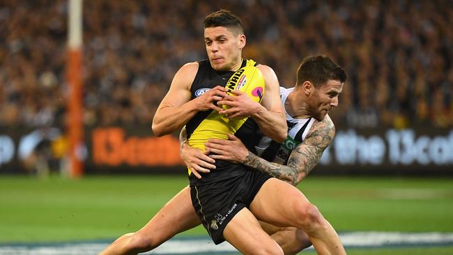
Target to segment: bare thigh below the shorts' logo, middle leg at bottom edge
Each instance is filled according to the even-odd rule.
[[[225,240],[243,254],[283,254],[247,208],[243,208],[225,226]]]

